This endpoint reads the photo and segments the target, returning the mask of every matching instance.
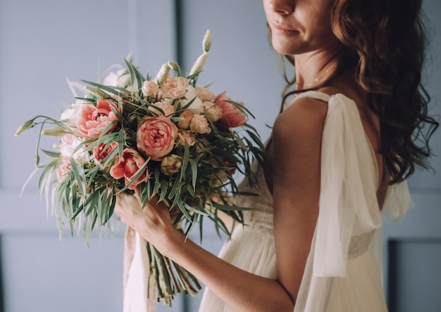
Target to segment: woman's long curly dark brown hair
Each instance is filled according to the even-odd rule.
[[[421,0],[335,0],[331,23],[342,42],[335,74],[355,69],[356,82],[380,118],[380,152],[397,183],[416,167],[429,168],[429,139],[439,126],[428,115],[430,96],[421,84],[426,29]],[[271,35],[271,34],[270,34]],[[283,56],[293,64],[292,56]],[[293,93],[287,79],[283,102]],[[305,90],[302,90],[305,91]]]

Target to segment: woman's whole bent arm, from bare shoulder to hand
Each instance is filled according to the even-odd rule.
[[[118,195],[116,212],[159,252],[185,267],[239,311],[292,311],[318,214],[325,104],[301,99],[275,122],[274,228],[277,279],[241,270],[185,240],[168,209]]]

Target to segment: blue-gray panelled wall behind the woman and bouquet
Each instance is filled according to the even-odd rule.
[[[177,5],[178,4],[178,5]],[[424,0],[433,29],[432,56],[426,70],[432,111],[441,112],[441,4]],[[55,115],[62,100],[73,97],[66,84],[98,77],[132,51],[143,71],[156,72],[167,60],[190,68],[201,51],[206,29],[213,45],[199,82],[241,100],[256,115],[251,121],[263,139],[270,134],[283,82],[266,40],[261,1],[235,0],[0,0],[0,253],[4,311],[121,311],[122,231],[91,248],[82,238],[58,241],[56,221],[35,195],[33,170],[36,131],[15,138],[15,129],[37,114]],[[179,40],[177,35],[179,34]],[[441,131],[435,152],[441,155]],[[7,148],[11,147],[11,148]],[[387,294],[393,311],[437,311],[441,306],[440,251],[441,162],[438,174],[411,178],[415,207],[397,224],[385,221]],[[221,241],[204,235],[204,246],[217,252]],[[390,265],[387,265],[387,264]],[[390,269],[393,268],[393,269]],[[414,282],[417,281],[417,282]],[[194,311],[200,296],[179,298],[173,309]],[[425,308],[414,309],[414,306]],[[185,310],[186,308],[186,310]],[[406,310],[406,308],[408,308]],[[0,307],[1,311],[1,307]]]

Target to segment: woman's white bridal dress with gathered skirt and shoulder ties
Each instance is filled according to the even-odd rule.
[[[328,113],[322,138],[318,221],[294,312],[387,311],[378,257],[370,248],[381,227],[375,153],[354,101],[318,91],[296,99],[304,96],[327,102]],[[219,256],[256,275],[275,278],[273,197],[261,167],[254,169],[260,181],[254,192],[260,195],[240,197],[237,204],[255,209],[244,213],[247,226],[235,228]],[[250,190],[247,181],[240,188]],[[397,220],[410,204],[406,182],[395,184],[388,190],[383,212]],[[206,288],[199,312],[221,311],[235,310]]]

